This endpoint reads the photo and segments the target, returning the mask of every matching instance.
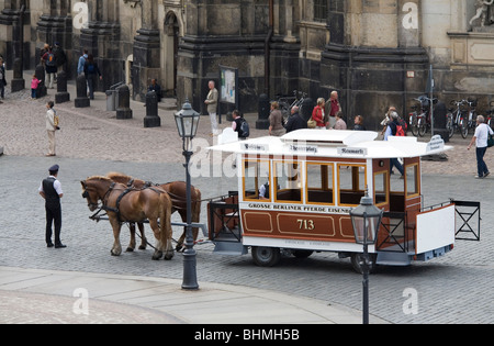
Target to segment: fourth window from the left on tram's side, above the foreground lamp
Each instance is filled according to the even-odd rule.
[[[366,166],[338,164],[339,204],[358,205],[366,192]]]

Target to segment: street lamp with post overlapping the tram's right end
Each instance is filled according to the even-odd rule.
[[[350,211],[351,225],[353,226],[355,242],[363,245],[363,298],[362,314],[363,324],[369,324],[369,253],[368,245],[375,243],[379,226],[382,219],[382,210],[373,204],[368,191],[360,200],[360,204]]]

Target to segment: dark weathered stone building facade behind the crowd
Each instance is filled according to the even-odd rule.
[[[82,49],[103,74],[144,100],[158,79],[179,104],[205,112],[209,80],[238,72],[243,112],[260,94],[293,90],[328,99],[377,129],[389,105],[406,114],[427,88],[445,103],[475,97],[489,108],[494,4],[486,0],[0,0],[0,54],[34,69],[45,43],[60,43],[75,78]],[[493,27],[493,30],[491,30]],[[21,37],[23,36],[23,37]],[[491,55],[491,53],[493,53]],[[375,124],[375,126],[374,126]]]

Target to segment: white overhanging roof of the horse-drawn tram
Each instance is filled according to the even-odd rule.
[[[439,135],[428,143],[418,142],[413,136],[375,141],[378,133],[373,131],[297,130],[281,137],[263,136],[246,141],[235,141],[228,137],[229,134],[224,135],[220,135],[220,144],[207,149],[246,155],[392,158],[435,155],[452,148],[445,145]]]

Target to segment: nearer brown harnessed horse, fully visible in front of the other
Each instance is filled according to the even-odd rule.
[[[165,259],[173,257],[171,246],[171,199],[158,187],[143,190],[127,188],[114,182],[108,177],[90,177],[83,181],[82,197],[88,200],[90,211],[98,209],[101,200],[113,227],[113,256],[122,254],[120,232],[122,222],[141,222],[149,220],[149,225],[157,239],[153,259],[159,259],[165,253]]]

